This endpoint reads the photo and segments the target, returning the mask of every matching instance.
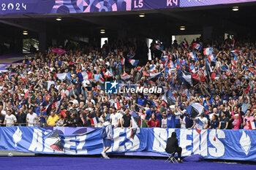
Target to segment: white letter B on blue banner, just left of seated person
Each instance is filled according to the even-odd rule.
[[[167,139],[167,131],[165,128],[154,128],[154,142],[152,150],[158,152],[165,152],[166,142],[163,139]]]

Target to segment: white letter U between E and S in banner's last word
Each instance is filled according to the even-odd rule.
[[[207,156],[207,130],[202,130],[200,134],[193,130],[193,152],[202,156]]]

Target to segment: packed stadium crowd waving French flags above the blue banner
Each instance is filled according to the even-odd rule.
[[[254,129],[255,42],[217,39],[173,42],[68,43],[49,48],[0,77],[0,125]],[[63,52],[63,53],[61,53]],[[105,94],[105,81],[162,93]],[[203,112],[193,117],[191,104]],[[195,110],[194,110],[195,112]]]

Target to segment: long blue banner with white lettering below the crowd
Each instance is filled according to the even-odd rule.
[[[45,154],[95,155],[102,152],[100,129],[63,135],[38,127],[1,127],[0,150]],[[182,156],[200,154],[209,159],[256,161],[256,131],[174,128],[113,128],[109,152],[165,153],[167,138],[176,132]]]

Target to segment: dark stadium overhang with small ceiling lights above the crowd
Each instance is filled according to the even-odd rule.
[[[204,28],[207,27],[211,27],[213,36],[223,33],[256,36],[254,31],[256,23],[253,22],[256,18],[256,12],[253,12],[256,7],[255,1],[238,4],[223,4],[224,1],[222,1],[222,4],[217,5],[181,7],[182,1],[184,0],[178,1],[179,7],[159,9],[4,14],[0,15],[0,23],[2,23],[0,24],[0,36],[1,39],[22,39],[22,33],[26,30],[29,31],[29,35],[26,37],[30,38],[38,37],[39,34],[56,39],[74,36],[91,38],[101,37],[100,29],[103,28],[105,29],[104,36],[118,37],[122,34],[123,36],[154,39],[179,34],[203,34]],[[238,0],[234,1],[238,2]],[[237,12],[232,10],[234,6],[239,7]],[[140,13],[144,13],[146,16],[140,18],[138,17]],[[0,12],[0,14],[3,13]],[[57,21],[56,18],[61,18],[61,21]],[[180,26],[186,26],[186,30],[181,31]]]

